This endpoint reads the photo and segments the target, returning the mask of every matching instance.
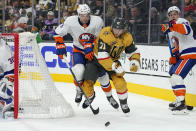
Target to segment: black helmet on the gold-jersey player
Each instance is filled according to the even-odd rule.
[[[128,27],[128,23],[124,18],[116,17],[112,22],[112,28],[126,30],[127,27]]]

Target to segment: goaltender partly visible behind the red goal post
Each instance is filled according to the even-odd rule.
[[[0,112],[13,105],[14,56],[10,47],[0,38]]]

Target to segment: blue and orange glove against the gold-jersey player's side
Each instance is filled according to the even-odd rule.
[[[91,42],[87,42],[84,44],[85,58],[88,59],[89,61],[93,60],[94,57],[93,46],[94,45]]]

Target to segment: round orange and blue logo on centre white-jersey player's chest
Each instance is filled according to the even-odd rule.
[[[95,41],[95,37],[93,34],[90,33],[83,33],[79,36],[78,41],[80,44],[84,45],[86,42],[93,43]]]

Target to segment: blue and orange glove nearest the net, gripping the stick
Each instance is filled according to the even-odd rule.
[[[67,50],[64,43],[56,43],[56,54],[63,59],[63,55],[67,56]]]

